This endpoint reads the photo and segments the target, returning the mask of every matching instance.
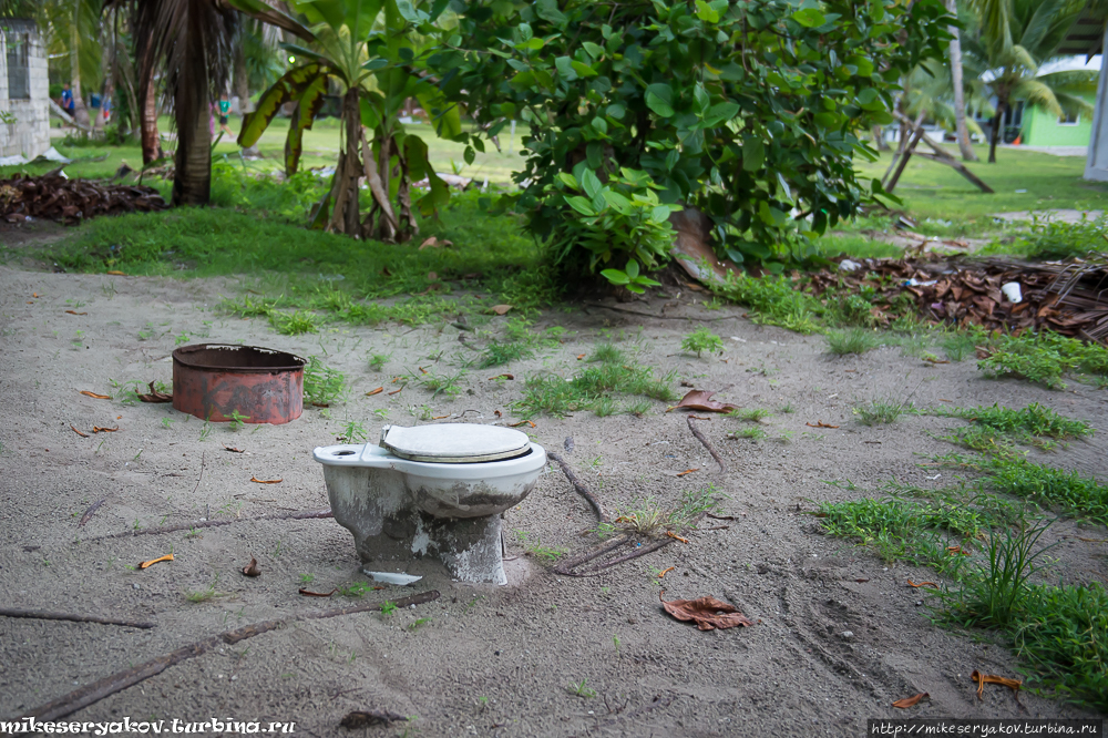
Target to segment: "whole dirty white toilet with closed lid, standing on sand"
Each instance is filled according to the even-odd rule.
[[[534,488],[546,451],[499,426],[384,426],[378,445],[317,448],[335,521],[381,581],[438,558],[462,582],[506,584],[501,513]]]

